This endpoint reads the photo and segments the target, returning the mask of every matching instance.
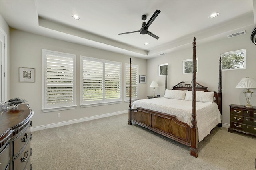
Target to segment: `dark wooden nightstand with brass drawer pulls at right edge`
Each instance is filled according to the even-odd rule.
[[[230,127],[233,130],[256,136],[256,107],[244,107],[243,105],[230,106]]]

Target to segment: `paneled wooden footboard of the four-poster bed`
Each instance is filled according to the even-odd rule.
[[[137,108],[130,110],[130,118],[138,125],[190,146],[190,126],[174,115]]]

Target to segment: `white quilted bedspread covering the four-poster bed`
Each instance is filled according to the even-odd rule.
[[[192,125],[192,101],[159,97],[134,101],[132,109],[137,107],[175,115],[179,121],[185,122],[190,126]],[[218,105],[216,103],[196,102],[196,120],[200,142],[207,134],[210,134],[211,130],[218,123],[221,123]]]

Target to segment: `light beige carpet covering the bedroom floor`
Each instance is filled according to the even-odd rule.
[[[32,132],[33,170],[254,170],[256,137],[216,127],[190,148],[127,124],[128,114]]]

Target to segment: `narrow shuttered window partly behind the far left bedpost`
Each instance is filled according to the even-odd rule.
[[[139,99],[138,97],[138,65],[132,65],[132,100]],[[124,100],[129,100],[129,87],[130,87],[130,64],[125,64],[125,85],[126,93]]]

